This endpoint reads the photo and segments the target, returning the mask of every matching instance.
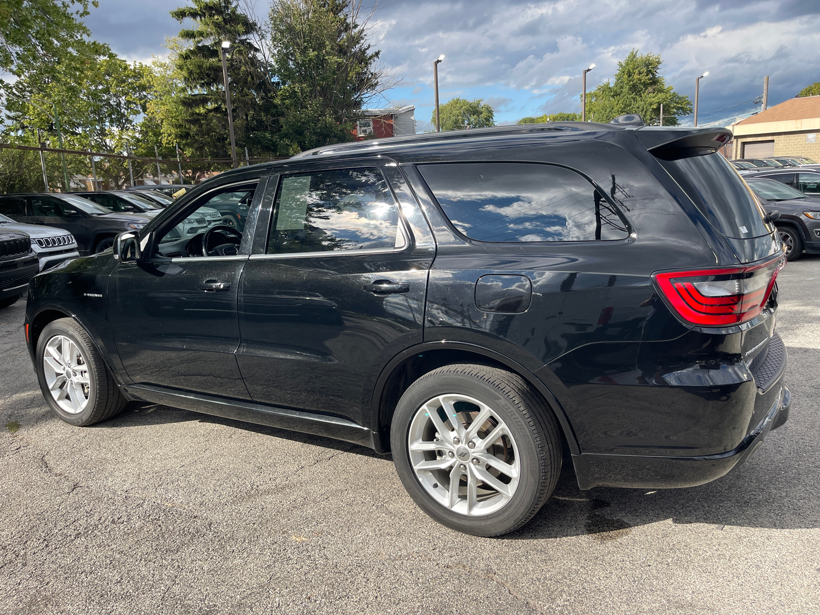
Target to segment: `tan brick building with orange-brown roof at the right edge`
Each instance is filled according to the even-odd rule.
[[[731,130],[734,158],[806,156],[820,161],[820,96],[790,98]]]

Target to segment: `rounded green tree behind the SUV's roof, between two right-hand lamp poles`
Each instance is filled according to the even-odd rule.
[[[586,116],[591,121],[608,122],[625,113],[637,113],[649,124],[657,124],[663,103],[663,124],[677,125],[677,116],[692,112],[689,97],[676,93],[658,74],[663,60],[659,55],[639,55],[632,49],[618,62],[615,80],[600,84],[587,96]]]

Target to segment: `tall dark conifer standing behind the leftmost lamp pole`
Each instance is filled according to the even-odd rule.
[[[180,23],[192,22],[180,30],[180,43],[172,49],[174,66],[155,66],[153,84],[164,103],[155,107],[153,117],[169,122],[160,129],[163,141],[178,142],[190,157],[230,157],[220,57],[226,40],[231,43],[227,64],[236,147],[254,155],[276,153],[276,84],[258,44],[262,28],[239,9],[239,0],[190,2],[193,6],[171,11]],[[160,83],[163,79],[168,82]]]

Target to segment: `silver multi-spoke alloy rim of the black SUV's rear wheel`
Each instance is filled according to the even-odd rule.
[[[438,395],[422,404],[410,423],[408,450],[421,486],[453,512],[497,512],[518,487],[521,462],[510,430],[492,408],[467,395]]]

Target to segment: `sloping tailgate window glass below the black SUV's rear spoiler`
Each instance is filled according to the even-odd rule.
[[[721,154],[658,162],[723,235],[750,239],[771,232],[757,199]]]

